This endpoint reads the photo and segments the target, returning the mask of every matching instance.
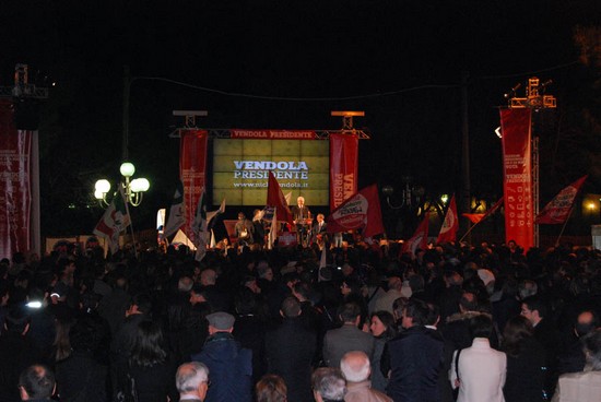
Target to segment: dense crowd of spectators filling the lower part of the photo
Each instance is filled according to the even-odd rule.
[[[601,398],[598,250],[141,249],[0,262],[1,401]]]

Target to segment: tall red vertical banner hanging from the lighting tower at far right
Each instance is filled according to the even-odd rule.
[[[502,109],[505,239],[534,246],[530,109]]]

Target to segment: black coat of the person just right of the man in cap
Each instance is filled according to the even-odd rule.
[[[286,382],[287,401],[311,400],[311,360],[317,335],[303,326],[300,318],[286,318],[280,327],[267,333],[268,373]]]

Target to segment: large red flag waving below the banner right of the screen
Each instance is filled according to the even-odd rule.
[[[337,208],[326,220],[328,232],[346,232],[363,227],[363,236],[372,237],[384,233],[378,187],[372,185]]]

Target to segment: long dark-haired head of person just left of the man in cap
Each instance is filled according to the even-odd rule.
[[[161,327],[153,321],[140,321],[131,347],[131,363],[141,367],[152,367],[164,363],[167,353],[162,345],[163,332]]]

